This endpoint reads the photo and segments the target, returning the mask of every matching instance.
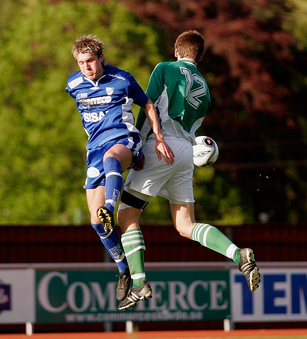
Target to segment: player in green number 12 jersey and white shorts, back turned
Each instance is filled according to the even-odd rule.
[[[152,296],[145,276],[145,243],[138,219],[148,202],[157,195],[169,200],[175,228],[182,236],[236,262],[250,291],[255,291],[260,282],[259,269],[250,248],[240,249],[217,228],[195,222],[193,145],[195,132],[210,107],[207,81],[197,70],[204,52],[203,36],[198,31],[185,31],[175,43],[177,61],[159,63],[149,79],[146,95],[156,107],[162,134],[175,154],[175,161],[169,166],[155,156],[154,135],[141,108],[136,127],[141,132],[145,160],[142,170],[130,170],[117,214],[133,280],[119,309],[133,307],[139,300]]]

